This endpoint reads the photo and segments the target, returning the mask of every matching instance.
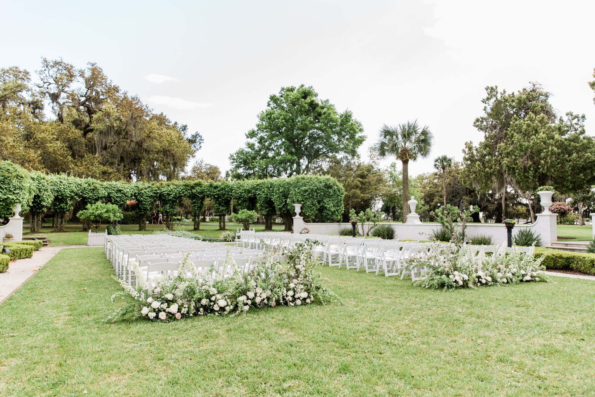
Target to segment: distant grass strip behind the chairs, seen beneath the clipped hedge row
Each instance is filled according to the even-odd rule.
[[[218,231],[219,228],[218,222],[211,222],[205,223],[201,222],[201,230],[196,231],[192,230],[193,225],[191,223],[186,225],[176,225],[176,230],[186,230],[190,231],[199,235],[205,235],[206,237],[213,237],[219,238],[221,231]],[[236,224],[233,222],[227,222],[226,227],[229,230],[236,230],[237,228],[242,228],[240,224]],[[163,230],[165,227],[164,225],[147,225],[146,231],[139,231],[138,225],[121,225],[121,230],[126,234],[152,234],[152,232],[157,230]],[[250,225],[250,228],[256,228],[256,231],[264,230],[264,225]],[[82,227],[80,225],[66,225],[64,228],[67,232],[55,233],[54,228],[52,227],[44,227],[42,231],[39,233],[27,234],[29,236],[47,236],[48,240],[50,240],[51,246],[75,246],[75,245],[85,245],[87,244],[87,232],[80,231]],[[273,225],[273,229],[277,231],[283,230],[283,225]],[[95,229],[93,229],[95,231]],[[99,228],[99,231],[105,231],[105,227],[102,226]],[[29,227],[23,228],[23,233],[29,232]]]

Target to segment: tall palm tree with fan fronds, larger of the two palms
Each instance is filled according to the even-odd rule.
[[[397,127],[383,125],[380,139],[375,145],[378,156],[395,156],[403,163],[403,223],[409,214],[409,160],[428,157],[432,150],[433,135],[428,126],[419,129],[417,120]]]

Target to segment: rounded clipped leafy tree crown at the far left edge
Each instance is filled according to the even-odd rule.
[[[0,162],[0,219],[14,216],[12,209],[21,204],[27,212],[35,194],[29,173],[11,162]]]

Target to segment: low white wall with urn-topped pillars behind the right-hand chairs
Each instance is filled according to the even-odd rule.
[[[543,213],[537,214],[537,219],[533,224],[516,224],[514,229],[512,229],[512,235],[515,235],[520,229],[530,229],[535,233],[535,235],[540,235],[541,244],[543,244],[543,246],[549,246],[550,243],[552,243],[552,241],[558,241],[558,229],[556,228],[556,218],[558,217],[558,214],[551,213],[549,211],[549,207],[552,205],[552,192],[547,193],[549,193],[549,201],[543,200],[543,195],[540,195],[542,198],[542,204],[546,204],[544,205]],[[546,194],[546,196],[548,195]],[[299,216],[302,204],[294,205],[296,207],[296,216],[293,217],[293,232],[295,233],[299,233],[300,230],[306,227],[310,229],[310,232],[312,234],[330,235],[339,234],[339,229],[345,227],[351,228],[351,224],[349,222],[339,222],[331,224],[306,223],[303,221],[302,216]],[[394,229],[394,238],[397,238],[399,240],[405,240],[409,238],[411,238],[412,240],[427,240],[428,234],[430,234],[430,232],[434,229],[440,228],[441,226],[439,224],[423,223],[419,220],[419,215],[415,213],[415,206],[417,205],[417,201],[415,201],[413,197],[411,200],[409,200],[409,205],[411,206],[411,213],[410,215],[408,215],[408,219],[405,224],[397,222],[389,224]],[[507,237],[506,227],[503,224],[486,224],[471,222],[466,225],[465,234],[490,235],[494,244],[501,244],[503,241],[506,241]]]

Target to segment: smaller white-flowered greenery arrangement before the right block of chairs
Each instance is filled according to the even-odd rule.
[[[541,258],[523,253],[514,247],[512,252],[486,256],[483,250],[473,255],[472,249],[459,249],[455,244],[431,246],[429,251],[415,254],[409,269],[426,268],[425,280],[416,281],[421,287],[434,289],[476,288],[496,285],[548,281]]]

